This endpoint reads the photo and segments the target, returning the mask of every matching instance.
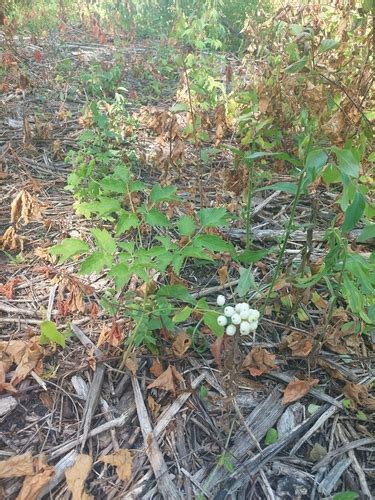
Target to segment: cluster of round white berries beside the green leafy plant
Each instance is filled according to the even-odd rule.
[[[218,295],[216,299],[218,306],[225,305],[224,295]],[[235,307],[224,307],[224,314],[218,316],[217,323],[220,326],[226,327],[225,333],[229,336],[236,334],[237,329],[241,335],[249,335],[255,332],[258,328],[260,313],[257,309],[251,309],[249,304],[241,302],[236,304]]]

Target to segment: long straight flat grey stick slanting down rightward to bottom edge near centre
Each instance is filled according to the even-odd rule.
[[[139,382],[134,375],[131,376],[131,381],[134,391],[135,404],[137,407],[138,420],[145,442],[145,451],[150,461],[152,470],[154,471],[159,492],[165,499],[173,498],[176,500],[182,500],[180,492],[177,490],[168,473],[168,467],[164,461],[157,438],[153,432],[146,405],[143,401],[143,395]]]

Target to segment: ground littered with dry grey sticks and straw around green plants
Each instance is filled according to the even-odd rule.
[[[174,103],[177,84],[177,79],[161,78],[159,95],[148,98],[147,82],[134,76],[134,66],[141,62],[154,68],[153,44],[124,46],[115,53],[112,45],[93,43],[77,30],[43,44],[18,40],[9,51],[0,103],[0,233],[14,229],[8,233],[7,253],[0,254],[0,342],[4,346],[20,340],[31,345],[46,318],[53,319],[60,330],[72,324],[73,333],[65,349],[46,348],[42,377],[35,364],[14,394],[1,393],[1,459],[27,451],[33,456],[44,454],[55,467],[43,490],[45,498],[68,497],[64,472],[81,452],[93,459],[86,486],[95,498],[322,498],[344,490],[370,498],[375,483],[374,417],[361,421],[345,410],[342,400],[345,386],[347,397],[374,409],[365,389],[373,380],[373,358],[361,337],[342,338],[337,317],[337,328],[328,331],[336,349],[304,359],[304,348],[314,340],[311,332],[318,328],[326,307],[324,297],[317,301],[316,310],[309,311],[314,322],[308,327],[264,320],[255,340],[224,351],[219,346],[213,352],[221,366],[209,349],[197,345],[184,353],[170,338],[158,358],[140,350],[132,370],[119,368],[121,349],[106,344],[96,347],[103,329],[113,329],[111,318],[98,308],[100,296],[110,286],[108,278],[98,276],[88,282],[77,277],[76,263],[56,266],[47,248],[67,236],[88,237],[97,223],[75,214],[73,199],[64,190],[71,168],[64,158],[77,147],[85,126],[87,87],[79,72],[90,61],[111,67],[119,54],[128,60],[123,78],[129,110],[141,123],[131,131],[135,139],[129,139],[129,148],[136,149],[141,159],[136,175],[148,185],[160,178],[173,180],[186,198],[183,209],[199,207],[194,147],[185,145],[186,164],[181,170],[166,171],[152,156],[159,146],[150,123]],[[147,106],[146,111],[141,106]],[[145,113],[148,121],[142,122]],[[236,175],[233,180],[228,154],[206,165],[206,205],[226,204],[238,214],[241,189],[237,194],[236,189],[228,192],[228,183],[246,180]],[[287,176],[280,174],[274,180],[287,180]],[[11,203],[21,191],[29,194],[29,205],[22,223],[12,225]],[[318,219],[324,220],[332,216],[332,197],[325,193],[322,199],[324,209]],[[253,200],[253,236],[260,247],[271,246],[281,236],[290,203],[280,193]],[[40,220],[34,221],[39,212]],[[302,202],[301,226],[308,217]],[[234,223],[227,236],[240,245],[241,223]],[[304,231],[293,233],[288,255],[299,252],[305,238]],[[316,231],[313,238],[318,259],[324,250],[319,244],[322,233]],[[268,280],[274,264],[270,258],[268,267],[257,269],[260,285]],[[221,285],[214,271],[207,274],[205,269],[188,266],[184,273],[192,293],[212,303],[222,290],[231,296],[238,276],[236,269],[230,269],[229,284]],[[126,329],[126,320],[120,319],[117,325]],[[212,346],[213,337],[207,334],[206,342]],[[349,346],[350,359],[343,359],[340,346],[342,353]],[[254,347],[276,354],[278,370],[261,377],[244,370],[243,360]],[[259,369],[265,362],[254,361],[254,366]],[[168,366],[177,370],[175,386],[164,391],[159,381],[159,388],[147,389]],[[306,374],[319,380],[319,389],[285,404],[285,386],[293,377],[305,379]],[[7,373],[6,381],[13,376],[14,372]],[[358,392],[361,385],[364,389]],[[267,434],[271,428],[277,429],[275,442]],[[133,456],[127,480],[120,480],[116,469],[100,460],[123,448]],[[0,496],[16,498],[22,481],[3,479]]]

